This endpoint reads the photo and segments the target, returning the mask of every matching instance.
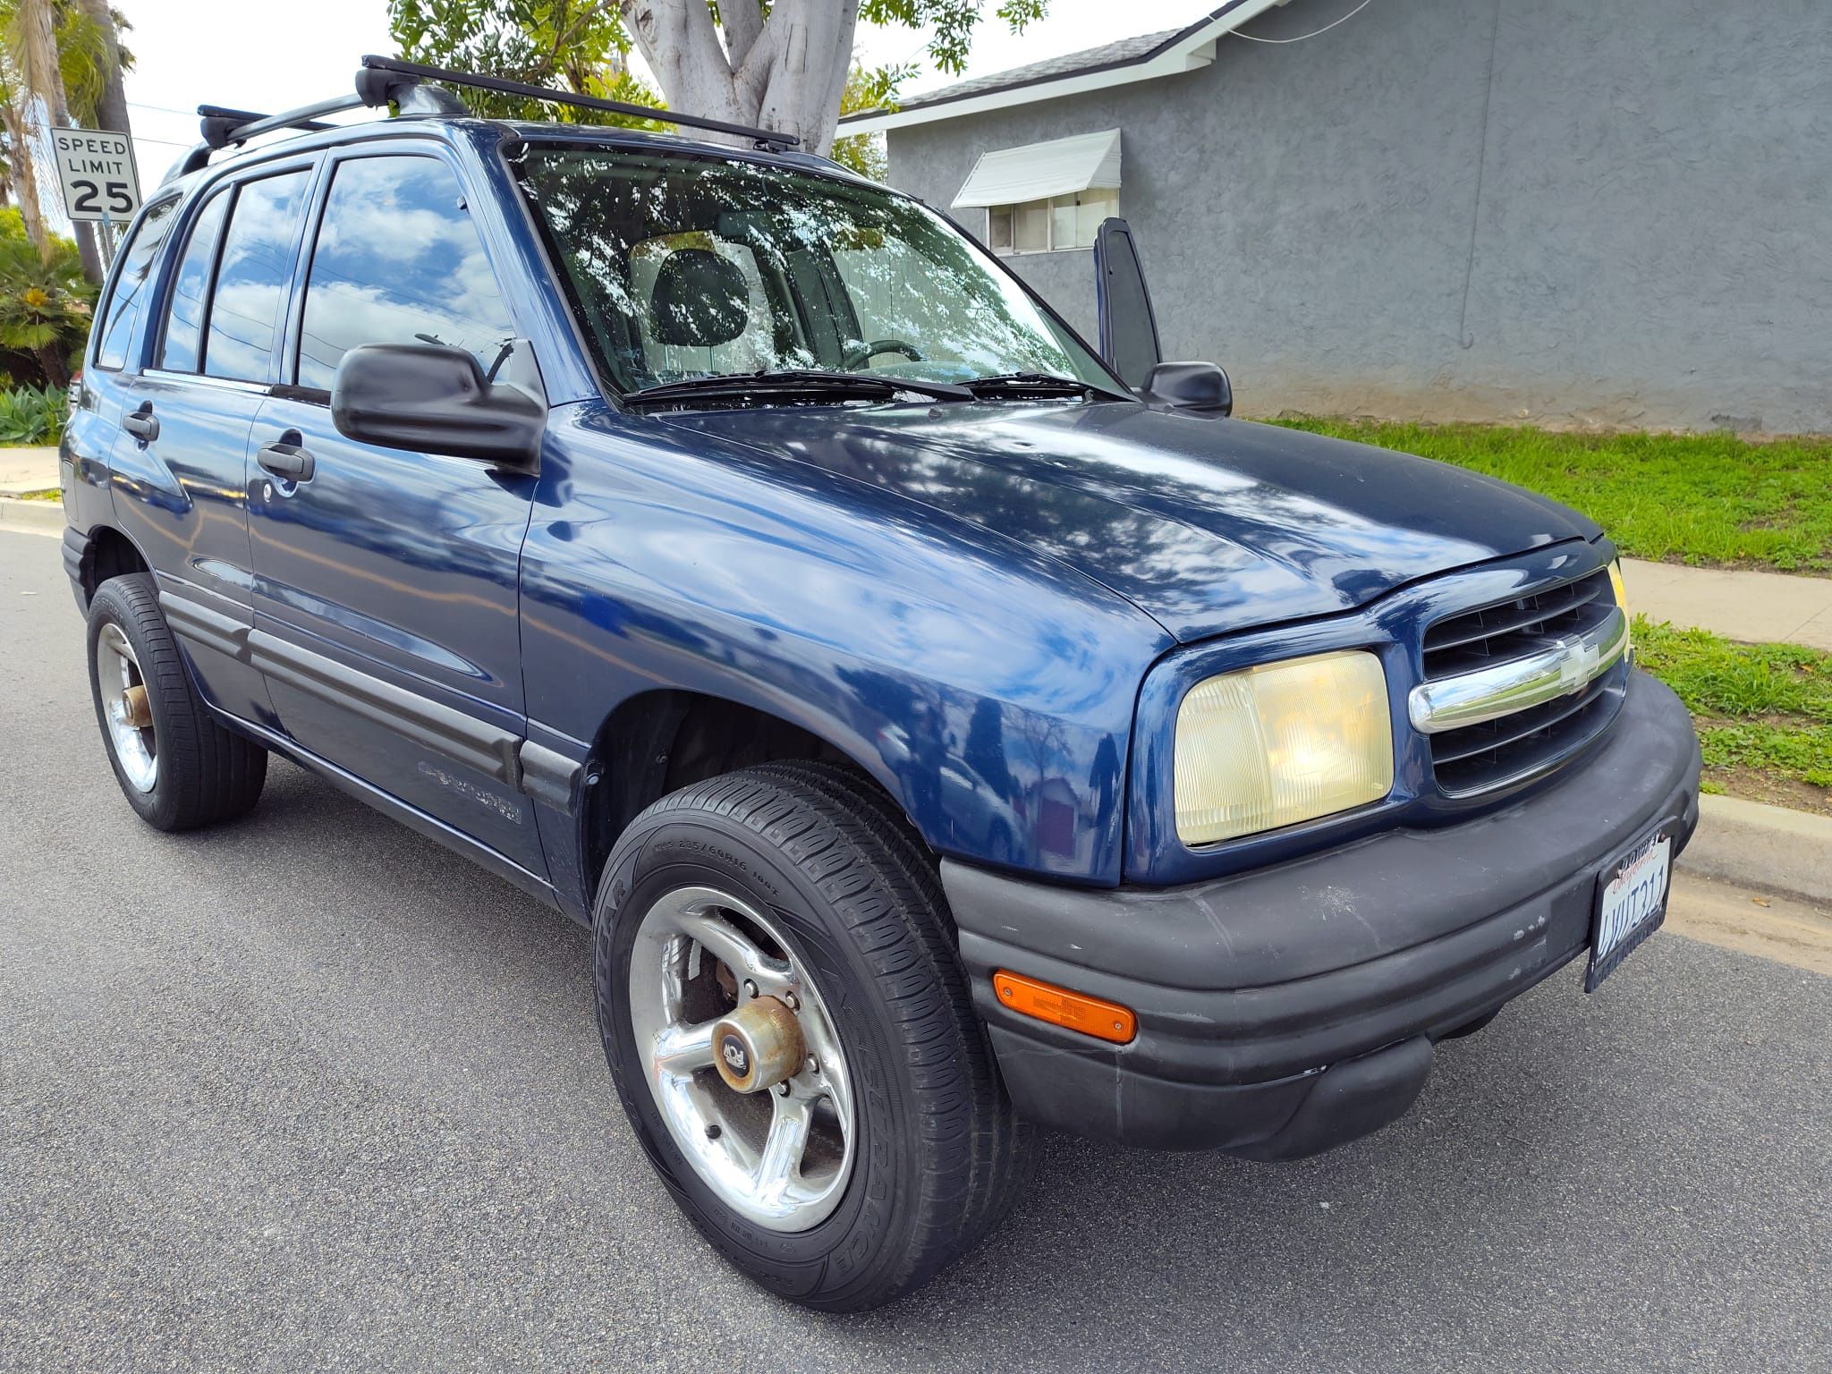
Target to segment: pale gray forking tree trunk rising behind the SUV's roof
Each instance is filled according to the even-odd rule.
[[[859,0],[777,0],[769,18],[757,0],[725,0],[724,44],[705,0],[621,0],[621,9],[671,110],[793,134],[804,150],[826,156]]]

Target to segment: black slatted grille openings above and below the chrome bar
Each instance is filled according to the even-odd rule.
[[[1599,570],[1524,597],[1447,616],[1425,630],[1425,682],[1530,658],[1596,632],[1614,610],[1608,572]],[[1570,696],[1431,735],[1431,768],[1440,791],[1467,797],[1557,768],[1616,718],[1625,680],[1627,669],[1616,665]]]

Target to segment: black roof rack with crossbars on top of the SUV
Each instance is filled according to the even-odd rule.
[[[255,110],[227,110],[220,104],[200,104],[198,115],[202,117],[203,141],[187,152],[183,159],[170,172],[167,172],[165,180],[170,181],[176,176],[189,176],[209,163],[213,152],[227,148],[231,143],[247,143],[256,134],[269,134],[277,128],[332,128],[332,125],[326,125],[319,115],[339,114],[341,110],[355,110],[359,106],[381,108],[392,103],[401,106],[401,114],[465,114],[463,103],[451,92],[440,90],[438,86],[423,86],[421,82],[425,81],[443,81],[453,86],[491,90],[498,95],[520,95],[524,99],[548,101],[551,104],[572,104],[581,110],[605,110],[608,114],[634,115],[638,119],[654,119],[656,123],[676,125],[680,128],[705,128],[714,134],[735,134],[738,137],[753,139],[758,148],[768,148],[771,152],[788,152],[790,148],[801,147],[801,139],[793,134],[777,134],[751,125],[731,125],[724,119],[702,119],[700,115],[678,114],[674,110],[650,110],[643,104],[605,101],[597,95],[579,95],[577,92],[555,90],[553,86],[531,86],[524,81],[487,77],[478,71],[451,71],[440,66],[403,62],[398,57],[376,57],[370,53],[363,59],[363,70],[355,73],[355,90],[348,95],[333,95],[328,101],[302,104],[297,110],[286,110],[273,115],[256,114]]]

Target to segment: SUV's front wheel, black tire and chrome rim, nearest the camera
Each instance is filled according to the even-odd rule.
[[[663,797],[605,865],[617,1096],[694,1226],[782,1297],[889,1303],[978,1244],[1019,1185],[1028,1132],[945,911],[901,817],[824,764]],[[782,1035],[791,1057],[733,1088]]]

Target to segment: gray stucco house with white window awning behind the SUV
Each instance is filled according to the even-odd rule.
[[[1303,37],[1354,5],[1233,0],[845,132],[1090,339],[1125,216],[1165,355],[1248,414],[1832,431],[1832,5],[1370,0]]]

